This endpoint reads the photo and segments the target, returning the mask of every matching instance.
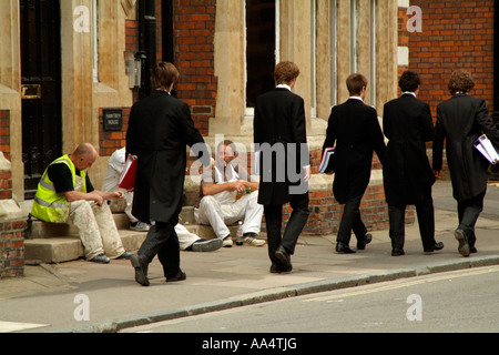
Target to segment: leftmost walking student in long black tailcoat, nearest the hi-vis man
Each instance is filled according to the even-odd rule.
[[[182,211],[186,145],[211,163],[204,140],[194,126],[189,105],[170,92],[179,71],[169,62],[157,63],[151,73],[154,91],[131,110],[126,132],[126,154],[138,156],[138,173],[132,214],[153,224],[131,262],[135,281],[149,286],[147,265],[157,254],[167,282],[186,278],[180,267],[179,237],[175,225]],[[154,223],[152,223],[154,222]]]

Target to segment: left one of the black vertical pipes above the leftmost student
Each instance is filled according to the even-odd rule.
[[[139,1],[139,53],[142,59],[140,98],[147,97],[151,89],[151,70],[156,63],[156,17],[154,0]]]

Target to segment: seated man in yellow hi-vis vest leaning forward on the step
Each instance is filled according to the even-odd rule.
[[[53,223],[70,223],[80,232],[85,257],[96,263],[110,258],[130,258],[118,233],[105,200],[123,200],[121,191],[94,190],[86,169],[98,158],[90,143],[80,144],[73,153],[54,160],[38,184],[31,214]]]

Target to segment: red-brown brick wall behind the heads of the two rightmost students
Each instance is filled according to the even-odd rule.
[[[436,106],[450,94],[450,73],[472,73],[472,95],[493,104],[493,0],[411,0],[422,10],[422,32],[408,33],[409,67],[419,72],[419,98]],[[404,37],[401,38],[404,40]]]

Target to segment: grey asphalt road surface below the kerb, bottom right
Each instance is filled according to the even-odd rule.
[[[497,333],[499,266],[294,297],[130,333]]]

